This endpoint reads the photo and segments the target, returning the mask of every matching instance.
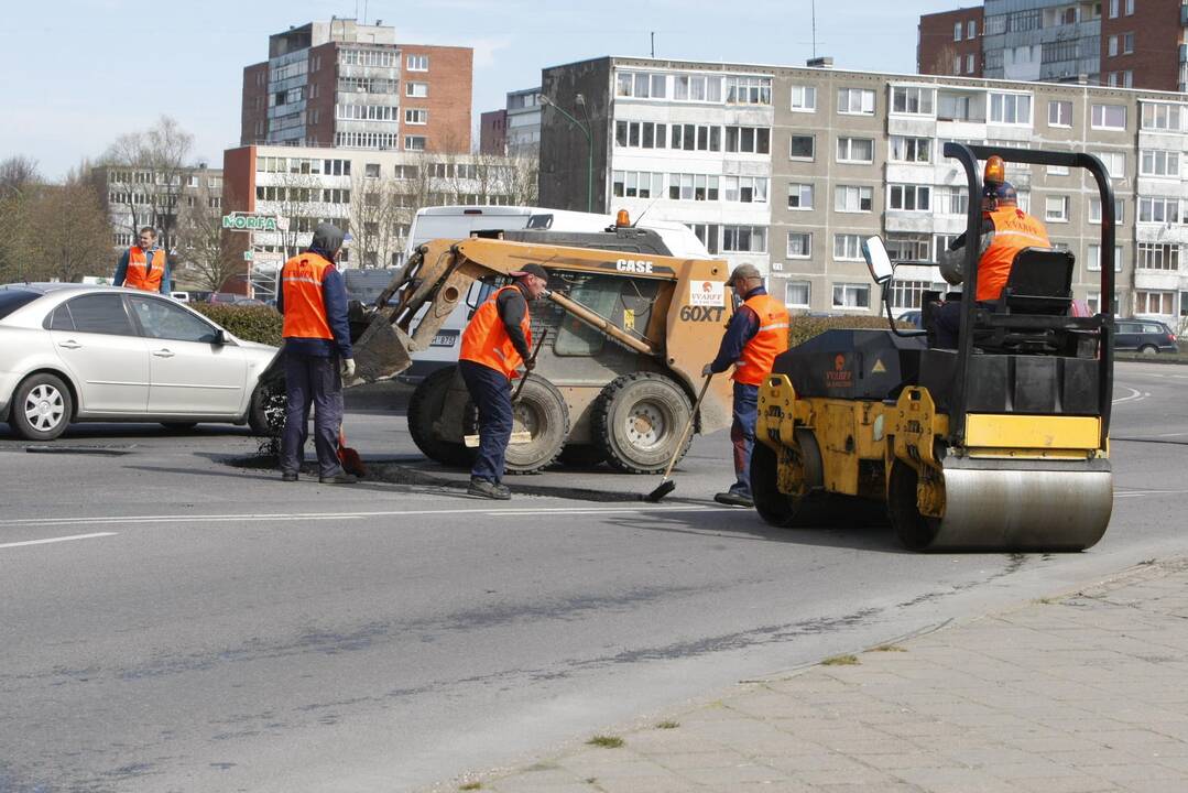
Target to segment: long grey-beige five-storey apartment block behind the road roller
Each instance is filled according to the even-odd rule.
[[[1088,151],[1113,176],[1123,315],[1188,314],[1188,100],[1083,84],[607,57],[545,69],[558,103],[577,93],[594,139],[594,203],[689,225],[733,264],[753,263],[801,310],[874,313],[860,252],[883,235],[899,260],[930,263],[965,229],[958,140]],[[541,201],[584,208],[586,140],[544,115]],[[1076,256],[1078,297],[1100,302],[1101,207],[1092,180],[1010,166],[1019,201]],[[897,311],[943,282],[901,268]]]

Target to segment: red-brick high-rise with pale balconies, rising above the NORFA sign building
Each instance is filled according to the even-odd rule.
[[[240,144],[470,151],[474,51],[402,44],[354,19],[268,37],[244,69]]]

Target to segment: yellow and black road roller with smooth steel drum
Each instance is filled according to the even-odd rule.
[[[1072,310],[1070,252],[1025,248],[997,301],[966,290],[956,348],[937,348],[940,292],[923,296],[923,331],[897,328],[896,263],[879,238],[866,240],[891,327],[828,331],[776,359],[759,390],[756,510],[771,524],[808,528],[853,524],[874,508],[923,552],[1083,550],[1113,506],[1108,174],[1087,153],[946,143],[944,155],[963,168],[972,196],[966,240],[981,229],[979,159],[1092,174],[1102,208],[1099,313]],[[978,256],[965,245],[966,284],[977,283]]]

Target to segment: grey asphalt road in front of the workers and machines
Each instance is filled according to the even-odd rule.
[[[1188,367],[1119,364],[1113,522],[1064,555],[769,529],[709,501],[725,433],[659,505],[498,504],[285,485],[229,466],[255,443],[226,427],[83,427],[37,452],[0,426],[0,791],[403,791],[1183,555],[1186,386]],[[350,441],[413,461],[386,399],[356,404]]]

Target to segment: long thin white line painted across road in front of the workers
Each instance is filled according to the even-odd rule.
[[[27,517],[0,521],[4,527],[44,525],[135,525],[145,523],[268,523],[293,521],[358,521],[369,517],[416,517],[425,515],[481,515],[485,517],[527,517],[533,515],[615,515],[634,512],[710,512],[731,511],[734,506],[689,504],[674,506],[549,506],[541,509],[421,509],[372,512],[266,512],[255,515],[113,515],[108,517]],[[0,546],[4,547],[4,546]]]

